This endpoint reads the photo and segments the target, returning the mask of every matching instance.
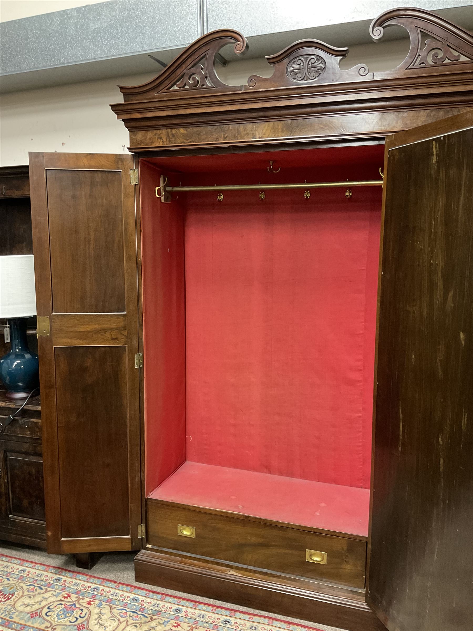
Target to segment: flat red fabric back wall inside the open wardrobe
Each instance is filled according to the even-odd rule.
[[[188,196],[187,459],[368,488],[381,190],[302,196]]]

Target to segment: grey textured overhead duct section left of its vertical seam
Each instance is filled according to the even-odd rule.
[[[0,24],[0,73],[173,49],[199,35],[196,0],[113,0]]]

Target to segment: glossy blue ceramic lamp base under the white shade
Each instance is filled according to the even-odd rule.
[[[38,355],[28,348],[25,317],[9,318],[11,350],[0,359],[0,378],[9,399],[25,399],[39,386]]]

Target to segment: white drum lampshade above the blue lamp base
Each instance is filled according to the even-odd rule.
[[[33,254],[0,256],[0,317],[36,315]]]

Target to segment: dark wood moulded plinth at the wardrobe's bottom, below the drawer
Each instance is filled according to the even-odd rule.
[[[350,631],[382,631],[385,628],[364,602],[363,592],[271,572],[255,572],[231,563],[143,550],[135,558],[135,579],[271,614],[308,620],[316,625]]]

